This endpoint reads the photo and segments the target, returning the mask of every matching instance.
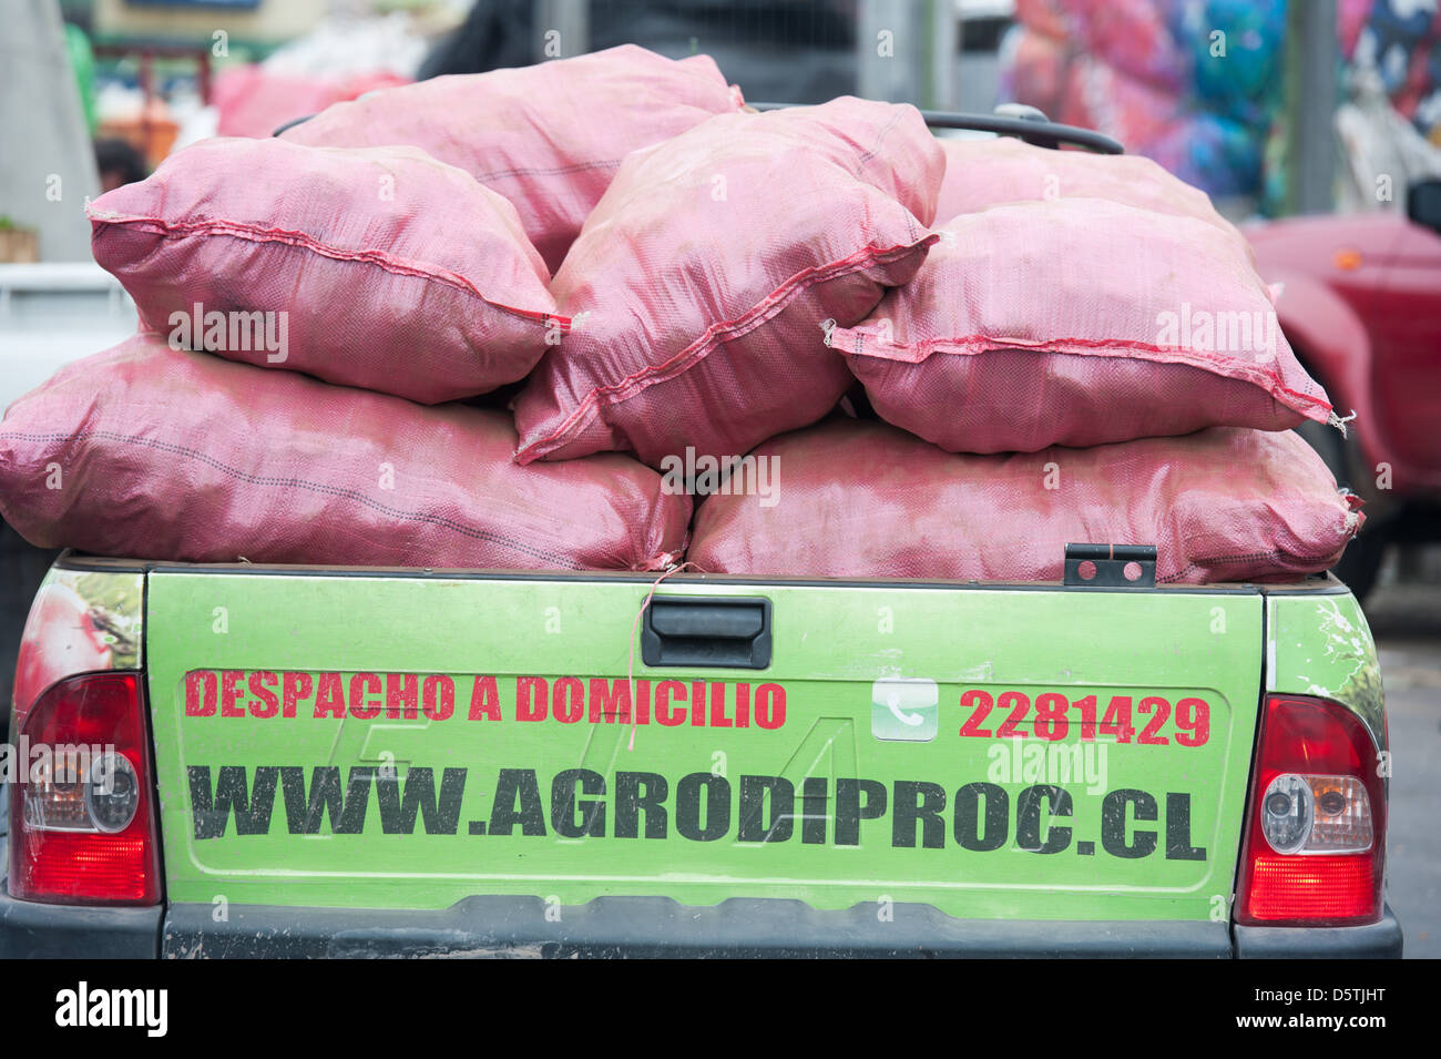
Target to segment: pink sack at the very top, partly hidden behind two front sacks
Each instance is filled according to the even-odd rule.
[[[623,45],[375,92],[329,107],[284,138],[422,147],[510,199],[553,272],[621,158],[742,105],[710,56],[677,62]]]

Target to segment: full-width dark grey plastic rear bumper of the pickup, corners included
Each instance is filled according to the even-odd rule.
[[[818,911],[735,898],[692,908],[667,898],[468,898],[437,912],[231,905],[71,908],[0,893],[0,957],[968,957],[1212,958],[1401,955],[1391,909],[1372,926],[1235,928],[1196,922],[953,919],[928,905]]]

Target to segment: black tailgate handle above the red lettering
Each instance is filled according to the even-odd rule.
[[[647,666],[765,669],[771,664],[771,601],[656,596],[646,608],[640,653]]]

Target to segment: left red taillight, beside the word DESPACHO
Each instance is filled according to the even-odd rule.
[[[10,785],[10,896],[154,905],[160,850],[140,677],[91,673],[29,710]]]

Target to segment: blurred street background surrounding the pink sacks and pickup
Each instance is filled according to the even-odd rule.
[[[1242,225],[1337,412],[1308,439],[1366,500],[1337,573],[1382,645],[1408,954],[1441,954],[1438,0],[3,0],[0,408],[135,330],[85,202],[212,135],[447,73],[637,43],[752,102],[1026,104]],[[944,220],[944,218],[941,219]],[[1284,290],[1284,292],[1282,292]],[[1043,294],[1043,292],[1042,292]],[[0,694],[52,553],[0,527]],[[1418,915],[1428,908],[1429,918]]]

